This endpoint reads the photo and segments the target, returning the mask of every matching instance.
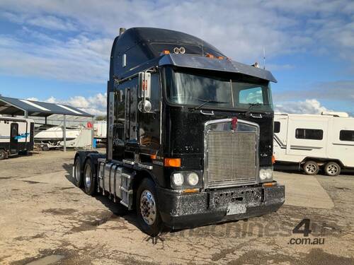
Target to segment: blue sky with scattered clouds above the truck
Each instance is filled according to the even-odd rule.
[[[354,115],[351,0],[2,0],[0,94],[103,114],[112,42],[134,26],[196,35],[246,64],[263,64],[264,47],[277,111]]]

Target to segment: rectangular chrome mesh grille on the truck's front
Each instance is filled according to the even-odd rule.
[[[256,183],[258,131],[206,133],[206,187]]]

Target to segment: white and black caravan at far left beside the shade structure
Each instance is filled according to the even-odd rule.
[[[33,150],[33,119],[0,116],[0,160]]]

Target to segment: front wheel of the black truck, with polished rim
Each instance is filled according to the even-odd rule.
[[[137,189],[137,218],[142,232],[155,237],[162,228],[156,189],[151,179],[142,180]]]

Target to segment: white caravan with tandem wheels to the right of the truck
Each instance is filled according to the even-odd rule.
[[[354,168],[354,118],[345,112],[275,114],[276,165],[297,164],[307,175],[336,176]]]

